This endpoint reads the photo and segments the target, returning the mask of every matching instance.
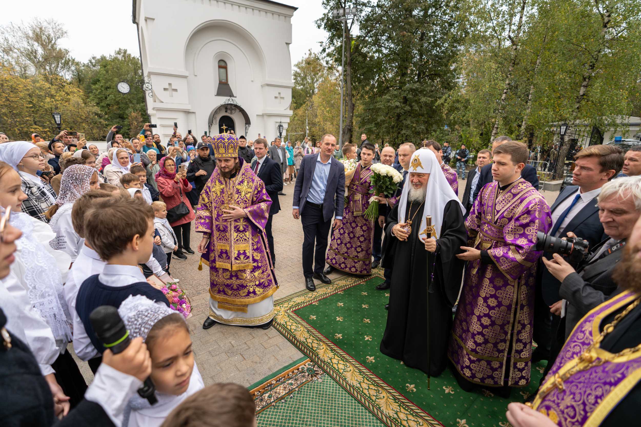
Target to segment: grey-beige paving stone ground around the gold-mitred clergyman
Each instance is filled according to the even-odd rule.
[[[459,180],[459,197],[463,196],[465,183],[465,180]],[[304,289],[303,228],[301,222],[292,217],[291,210],[294,184],[287,185],[283,192],[286,196],[279,196],[283,210],[274,216],[272,224],[279,284],[274,300]],[[543,195],[551,205],[558,192],[543,192]],[[201,235],[194,232],[193,225],[191,237],[191,247],[195,249]],[[216,324],[203,330],[203,321],[209,313],[209,276],[206,265],[198,271],[198,261],[197,253],[188,255],[185,261],[174,259],[171,273],[180,279],[181,287],[192,301],[193,315],[187,322],[194,342],[196,363],[205,385],[233,382],[247,387],[303,356],[274,328],[262,330]],[[330,278],[339,276],[337,272],[329,275]],[[85,379],[91,381],[92,374],[87,364],[76,360]]]

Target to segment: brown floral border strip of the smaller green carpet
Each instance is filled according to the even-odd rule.
[[[310,381],[317,381],[324,375],[325,373],[320,367],[306,358],[303,362],[294,364],[294,366],[269,378],[269,380],[249,391],[254,403],[256,403],[256,415],[271,406],[277,405],[278,402],[287,399],[288,396],[305,384]]]

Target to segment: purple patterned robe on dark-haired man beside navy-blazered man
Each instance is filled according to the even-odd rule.
[[[363,217],[369,206],[372,169],[356,166],[354,176],[347,187],[347,203],[343,211],[343,222],[331,235],[331,242],[325,261],[341,271],[353,274],[372,273],[372,242],[374,221]]]

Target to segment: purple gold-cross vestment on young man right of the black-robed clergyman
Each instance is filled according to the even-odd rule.
[[[481,189],[465,228],[490,264],[467,264],[447,356],[462,376],[487,387],[528,385],[532,356],[537,231],[551,227],[543,196],[522,178],[504,191]]]

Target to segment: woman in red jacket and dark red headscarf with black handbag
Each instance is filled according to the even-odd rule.
[[[160,171],[156,174],[156,184],[158,185],[158,192],[160,192],[163,201],[167,205],[168,212],[180,205],[181,202],[185,203],[188,208],[187,214],[183,217],[169,222],[174,233],[176,233],[176,240],[178,240],[178,251],[174,252],[174,258],[186,260],[187,256],[183,254],[183,250],[190,255],[194,253],[192,248],[189,247],[189,234],[192,226],[191,222],[196,217],[192,204],[187,197],[187,193],[192,190],[192,185],[187,181],[187,172],[176,173],[174,159],[163,157],[160,160]],[[168,216],[171,217],[171,212]]]

